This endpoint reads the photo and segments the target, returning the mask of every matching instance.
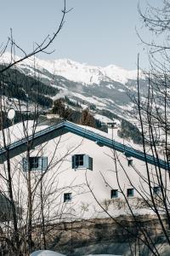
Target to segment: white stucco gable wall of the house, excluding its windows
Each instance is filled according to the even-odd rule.
[[[92,130],[92,128],[90,129]],[[13,132],[17,134],[17,129]],[[104,134],[102,133],[102,135]],[[105,136],[107,135],[105,134]],[[19,136],[16,137],[18,138]],[[121,138],[117,139],[121,140]],[[126,143],[129,144],[129,142]],[[139,146],[136,147],[139,148]],[[92,157],[94,160],[93,171],[72,169],[71,155],[73,154],[88,154]],[[143,196],[150,197],[147,172],[143,161],[133,159],[133,166],[128,166],[127,158],[124,154],[115,152],[111,148],[99,147],[96,143],[70,132],[62,137],[48,141],[48,143],[39,145],[34,150],[31,150],[31,156],[48,157],[47,172],[31,172],[32,199],[34,201],[33,218],[35,219],[42,213],[40,203],[41,183],[37,185],[37,181],[42,174],[42,208],[46,219],[51,219],[52,217],[55,220],[109,217],[99,207],[99,203],[111,216],[128,214],[128,207],[124,205],[125,197],[127,198],[127,189],[133,187],[134,195],[127,198],[127,201],[133,206],[134,213],[153,213],[145,207],[138,206],[140,203],[138,198],[141,197],[140,193]],[[26,215],[27,173],[23,172],[23,157],[26,157],[26,153],[20,154],[11,160],[11,170],[14,197],[19,202],[19,205],[24,208],[24,214]],[[153,172],[151,175],[153,186],[156,186],[155,169],[153,168],[153,171],[151,171],[152,166],[149,167],[150,172]],[[1,173],[6,175],[5,166],[1,165],[0,168]],[[164,177],[165,171],[162,170],[161,172]],[[4,180],[0,189],[3,191],[8,190]],[[118,189],[118,198],[111,199],[111,189]],[[71,201],[64,202],[64,193],[72,194]]]

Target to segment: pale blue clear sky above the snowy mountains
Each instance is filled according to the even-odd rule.
[[[161,0],[149,0],[160,3]],[[67,8],[74,8],[65,17],[65,26],[50,49],[52,55],[43,59],[70,58],[91,65],[115,64],[127,69],[136,68],[140,53],[145,66],[146,53],[135,32],[141,31],[138,0],[67,0]],[[0,44],[7,41],[10,27],[15,41],[29,52],[33,42],[41,42],[59,26],[62,0],[2,1],[0,9]],[[142,8],[145,0],[140,0]],[[150,33],[141,32],[145,40]]]

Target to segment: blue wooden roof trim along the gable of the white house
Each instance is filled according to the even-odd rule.
[[[110,138],[101,136],[94,131],[88,131],[86,128],[82,128],[79,125],[75,125],[70,122],[62,122],[57,125],[49,126],[48,128],[37,131],[34,136],[30,136],[28,138],[21,139],[15,143],[12,143],[8,146],[8,150],[5,148],[0,149],[0,162],[3,163],[7,159],[7,151],[8,157],[12,158],[18,154],[21,154],[26,151],[28,143],[31,143],[31,148],[36,147],[39,144],[45,143],[54,137],[59,137],[62,134],[67,132],[72,132],[77,134],[78,136],[85,137],[95,143],[99,144],[99,146],[105,146],[108,148],[113,148],[116,151],[122,152],[127,156],[132,156],[133,158],[147,161],[149,164],[154,166],[160,166],[162,169],[169,170],[169,165],[164,160],[157,160],[150,154],[145,154],[142,151],[136,150],[134,148],[130,148],[122,143],[117,143],[115,140],[111,140]]]

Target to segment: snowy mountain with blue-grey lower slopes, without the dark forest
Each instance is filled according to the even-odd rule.
[[[1,64],[17,61],[20,57],[5,53]],[[137,93],[137,71],[128,71],[122,67],[109,65],[107,67],[89,66],[86,63],[78,63],[69,59],[40,60],[31,57],[17,64],[21,73],[29,76],[38,76],[43,84],[56,89],[57,99],[60,96],[68,96],[71,100],[79,102],[82,108],[105,108],[114,113],[132,117],[133,102],[128,94]],[[147,83],[140,73],[141,83],[147,88]],[[132,112],[132,113],[131,113]]]

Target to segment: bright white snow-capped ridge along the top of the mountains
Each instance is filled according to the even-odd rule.
[[[17,61],[19,59],[19,56],[14,56],[12,60]],[[0,61],[1,63],[9,63],[11,55],[8,52],[5,53]],[[129,71],[116,65],[95,67],[70,59],[44,61],[37,57],[31,57],[19,64],[20,67],[34,67],[34,65],[37,69],[46,69],[49,73],[83,84],[99,84],[101,81],[109,82],[111,80],[126,84],[129,79],[137,79],[137,70]]]

